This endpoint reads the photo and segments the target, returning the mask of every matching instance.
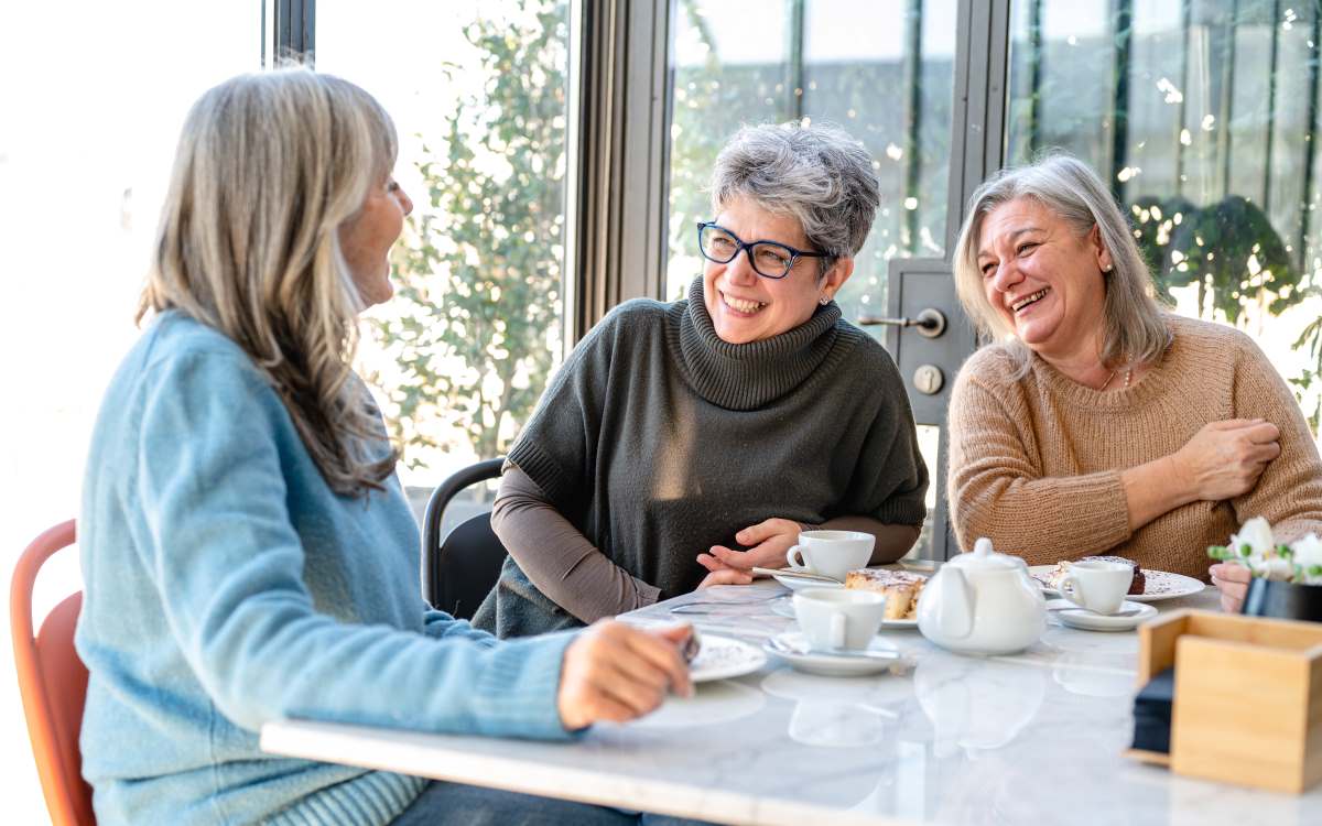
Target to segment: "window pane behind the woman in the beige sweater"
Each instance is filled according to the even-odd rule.
[[[1317,430],[1317,4],[1013,5],[1007,163],[1060,147],[1109,178],[1178,312],[1235,324]]]

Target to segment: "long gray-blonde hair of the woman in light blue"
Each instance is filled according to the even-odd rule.
[[[395,152],[389,115],[348,81],[291,67],[209,90],[184,123],[137,313],[177,309],[243,348],[341,494],[381,488],[398,459],[353,374],[364,304],[337,231]]]

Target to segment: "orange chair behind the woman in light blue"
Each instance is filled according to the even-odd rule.
[[[37,759],[41,790],[54,826],[95,823],[91,788],[82,778],[78,732],[87,696],[87,667],[74,650],[74,625],[82,609],[82,591],[46,615],[33,633],[32,587],[37,571],[56,551],[74,543],[74,521],[57,525],[33,539],[19,558],[9,588],[9,626],[13,659],[19,666],[19,693],[28,718],[32,753]]]

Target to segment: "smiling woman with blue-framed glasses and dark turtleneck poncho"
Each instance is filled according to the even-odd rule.
[[[759,126],[717,159],[687,299],[616,307],[510,451],[509,548],[475,622],[522,636],[784,567],[806,526],[912,547],[927,468],[890,356],[833,301],[880,200],[824,126]]]

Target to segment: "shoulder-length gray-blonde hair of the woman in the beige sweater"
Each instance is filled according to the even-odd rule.
[[[1051,152],[1025,167],[1002,169],[982,182],[969,198],[968,217],[954,247],[954,288],[964,311],[978,329],[994,338],[1014,329],[988,301],[978,270],[982,221],[1002,204],[1032,198],[1063,218],[1079,237],[1096,226],[1101,246],[1110,254],[1105,274],[1107,304],[1103,311],[1101,363],[1153,363],[1170,344],[1166,313],[1157,303],[1151,271],[1134,242],[1133,227],[1097,173],[1079,159]],[[1027,370],[1031,353],[1022,344],[1011,348]]]

